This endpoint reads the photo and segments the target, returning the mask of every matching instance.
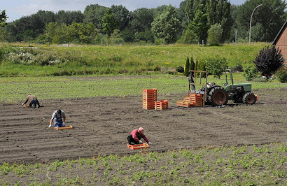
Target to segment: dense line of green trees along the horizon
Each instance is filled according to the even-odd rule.
[[[251,13],[260,4],[252,17],[251,41],[271,42],[286,21],[285,1],[247,0],[235,6],[228,0],[185,0],[179,8],[163,5],[133,11],[122,5],[91,4],[83,13],[38,10],[8,23],[2,10],[0,41],[220,45],[235,42],[235,38],[248,41]]]

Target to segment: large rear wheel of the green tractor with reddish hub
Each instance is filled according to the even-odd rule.
[[[209,92],[209,102],[212,106],[222,106],[228,103],[228,93],[223,87],[214,87]]]

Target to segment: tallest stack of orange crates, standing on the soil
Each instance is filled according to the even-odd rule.
[[[155,109],[155,101],[158,101],[157,89],[144,89],[143,90],[143,108]]]

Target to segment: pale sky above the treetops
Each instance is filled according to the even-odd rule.
[[[8,20],[12,22],[23,16],[37,13],[38,10],[48,10],[57,13],[59,10],[80,10],[82,13],[85,7],[90,4],[111,7],[112,5],[123,5],[127,10],[137,8],[157,8],[162,5],[169,5],[179,8],[183,0],[1,0],[0,10],[6,10]],[[241,5],[246,0],[230,0],[230,3]]]

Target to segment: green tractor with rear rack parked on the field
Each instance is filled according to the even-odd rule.
[[[200,83],[195,83],[196,73],[205,73],[205,83],[202,83],[202,78],[200,78]],[[230,83],[228,83],[228,74],[230,74]],[[232,100],[235,103],[245,103],[254,104],[257,97],[251,92],[251,83],[240,83],[234,84],[232,72],[230,69],[225,70],[225,83],[224,86],[216,85],[215,83],[207,83],[207,71],[190,71],[189,74],[189,92],[195,91],[195,85],[203,85],[200,92],[204,92],[205,103],[211,106],[222,106],[228,103],[228,100]],[[191,88],[191,90],[190,90]]]

